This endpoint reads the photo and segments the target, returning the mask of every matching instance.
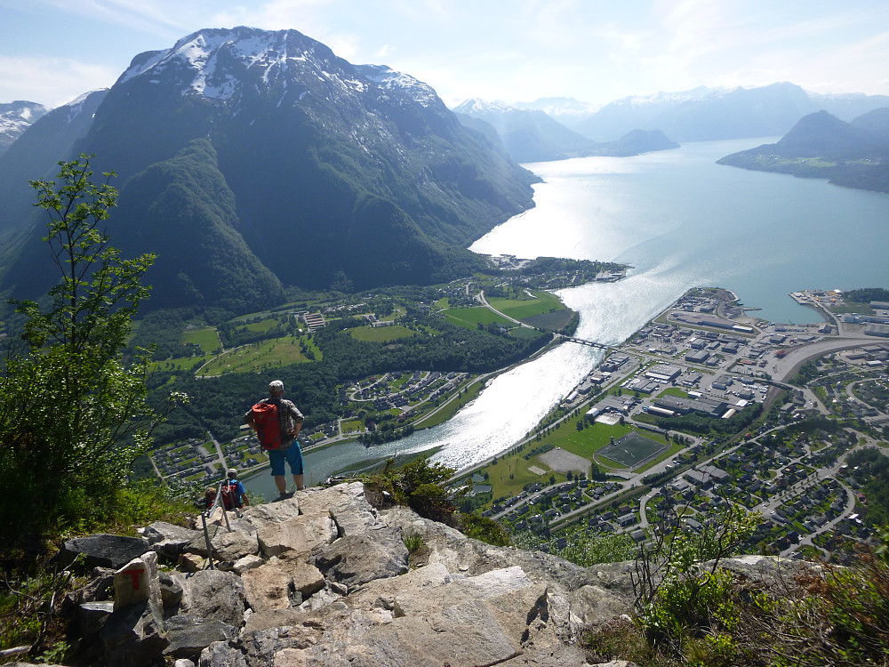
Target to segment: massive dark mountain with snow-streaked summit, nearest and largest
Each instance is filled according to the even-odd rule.
[[[188,170],[173,167],[196,159],[180,154],[196,139],[215,153],[212,165],[201,158],[212,178],[184,181]],[[449,279],[478,266],[466,245],[533,205],[533,174],[465,130],[427,85],[354,67],[295,30],[205,29],[140,54],[72,152],[81,151],[95,154],[97,173],[118,173],[116,226],[139,232],[118,234],[117,245],[154,252],[170,224],[161,216],[197,210],[180,214],[180,227],[197,229],[180,234],[176,261],[158,259],[154,279],[166,290],[188,284],[180,274],[209,271],[221,291],[191,286],[217,304],[252,261],[284,285],[327,287],[340,274],[356,288]],[[211,210],[226,189],[230,202]],[[16,224],[2,217],[0,226]],[[233,264],[213,254],[220,220],[244,243],[227,238]],[[232,275],[219,274],[226,267]],[[20,261],[11,275],[30,287],[39,271]]]

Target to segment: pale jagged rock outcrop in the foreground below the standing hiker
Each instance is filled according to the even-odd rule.
[[[493,547],[376,510],[360,483],[251,507],[231,526],[208,531],[218,569],[205,569],[203,530],[161,523],[143,531],[143,553],[96,569],[73,600],[84,655],[108,667],[581,667],[581,631],[632,607],[627,564]]]

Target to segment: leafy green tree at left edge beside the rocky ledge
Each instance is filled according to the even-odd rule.
[[[124,260],[109,245],[112,173],[97,185],[89,157],[59,164],[58,182],[30,184],[61,279],[41,303],[12,301],[24,345],[0,378],[0,487],[17,527],[36,534],[108,518],[163,418],[145,400],[148,351],[122,356],[154,257]]]

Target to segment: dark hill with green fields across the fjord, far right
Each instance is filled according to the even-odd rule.
[[[889,109],[886,109],[889,111]],[[723,157],[720,165],[826,178],[849,188],[889,192],[889,133],[869,125],[887,114],[845,123],[827,111],[800,119],[781,141]]]

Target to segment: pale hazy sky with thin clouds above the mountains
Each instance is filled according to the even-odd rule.
[[[790,81],[889,94],[887,0],[0,0],[0,102],[56,106],[200,28],[295,28],[453,107]]]

